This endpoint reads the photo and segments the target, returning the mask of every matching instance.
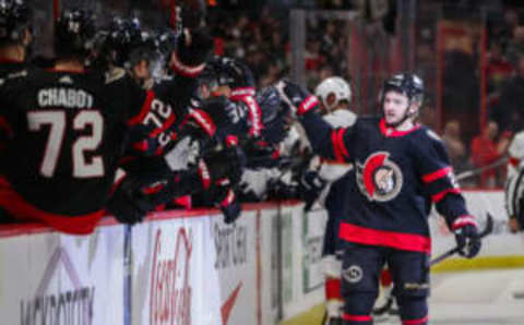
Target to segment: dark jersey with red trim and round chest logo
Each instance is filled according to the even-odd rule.
[[[317,153],[355,165],[341,239],[429,253],[431,204],[450,227],[468,214],[445,148],[431,130],[416,125],[400,132],[378,118],[332,129],[313,111],[301,122]]]

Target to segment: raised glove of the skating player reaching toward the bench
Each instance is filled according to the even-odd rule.
[[[282,101],[297,116],[302,116],[310,110],[319,108],[319,100],[305,87],[283,80],[276,84],[276,89]]]

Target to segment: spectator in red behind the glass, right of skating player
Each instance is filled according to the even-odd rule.
[[[472,141],[472,162],[475,168],[486,167],[501,158],[510,143],[510,135],[503,133],[498,140],[499,125],[496,121],[489,121],[483,133]],[[497,169],[485,170],[480,174],[481,188],[495,188],[497,185]]]

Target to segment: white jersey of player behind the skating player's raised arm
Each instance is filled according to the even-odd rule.
[[[324,121],[330,123],[334,128],[347,128],[355,124],[357,116],[347,109],[337,109],[333,112],[330,112],[323,117]],[[353,165],[323,160],[320,166],[319,176],[329,182],[334,182],[337,179],[342,178],[346,172],[352,170]]]

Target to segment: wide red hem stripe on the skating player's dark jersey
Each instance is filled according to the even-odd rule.
[[[368,245],[390,246],[428,254],[431,252],[431,239],[429,237],[365,228],[346,222],[341,222],[338,238]]]

